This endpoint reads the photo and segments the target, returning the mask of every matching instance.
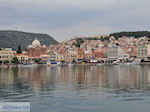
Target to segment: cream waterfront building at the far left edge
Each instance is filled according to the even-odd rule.
[[[16,54],[16,51],[13,51],[12,48],[1,48],[0,50],[0,60],[9,62],[12,61],[14,54]]]

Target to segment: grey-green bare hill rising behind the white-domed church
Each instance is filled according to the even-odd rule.
[[[20,45],[21,48],[25,50],[28,45],[32,44],[35,37],[37,37],[42,45],[49,46],[50,44],[58,44],[58,42],[48,34],[0,30],[0,48],[11,47],[17,50]]]

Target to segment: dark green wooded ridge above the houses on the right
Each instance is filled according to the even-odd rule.
[[[110,36],[114,36],[116,39],[122,37],[122,36],[127,36],[127,37],[135,37],[135,38],[139,38],[139,37],[143,37],[143,36],[147,36],[150,37],[150,32],[148,31],[137,31],[137,32],[119,32],[119,33],[112,33],[110,34]]]

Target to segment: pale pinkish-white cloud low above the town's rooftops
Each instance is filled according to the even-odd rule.
[[[58,37],[60,41],[62,41],[78,36],[94,36],[100,34],[108,34],[115,30],[116,30],[115,27],[99,26],[96,25],[95,21],[86,21],[67,28],[53,29],[50,30],[49,32],[52,35]]]

